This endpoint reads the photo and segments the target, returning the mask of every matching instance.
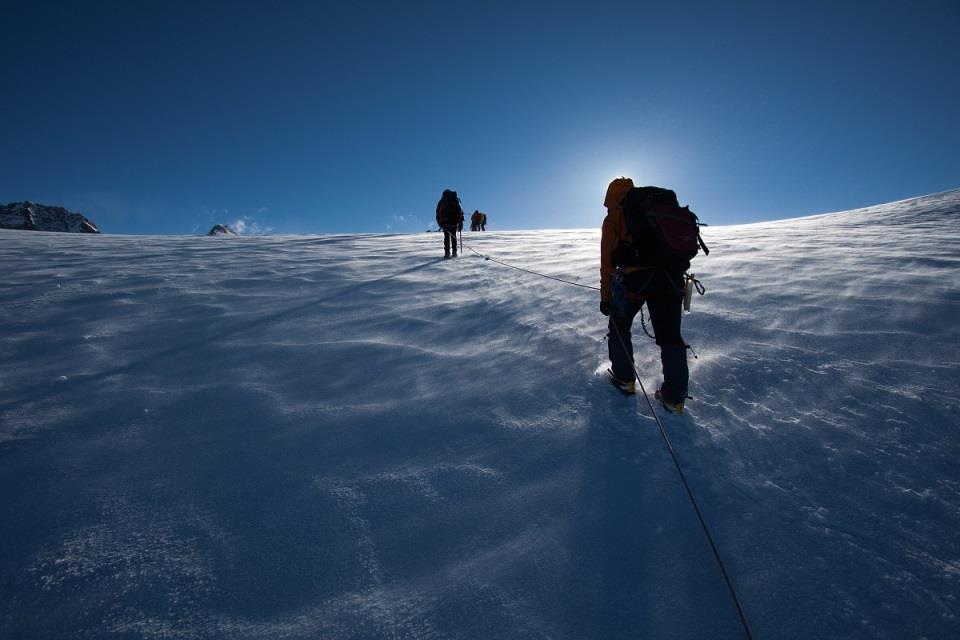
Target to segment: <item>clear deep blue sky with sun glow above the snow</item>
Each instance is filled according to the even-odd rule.
[[[107,233],[713,224],[960,187],[960,3],[4,2],[0,202]]]

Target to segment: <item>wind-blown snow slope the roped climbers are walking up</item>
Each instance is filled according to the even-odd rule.
[[[757,638],[960,635],[958,211],[706,230],[664,422]],[[0,637],[743,637],[596,292],[441,252],[0,231]]]

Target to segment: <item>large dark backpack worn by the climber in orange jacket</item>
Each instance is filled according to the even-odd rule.
[[[620,202],[633,242],[621,242],[613,255],[618,267],[657,267],[683,273],[703,249],[700,220],[681,207],[677,194],[660,187],[635,187]]]

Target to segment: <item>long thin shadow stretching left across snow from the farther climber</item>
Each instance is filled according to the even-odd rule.
[[[336,300],[337,298],[340,298],[340,297],[342,297],[342,296],[344,296],[344,295],[346,295],[346,294],[355,293],[355,292],[357,292],[357,291],[359,291],[359,290],[362,290],[362,289],[364,289],[364,288],[367,288],[367,287],[370,287],[370,286],[373,286],[373,285],[376,285],[376,284],[380,284],[380,283],[386,282],[386,281],[388,281],[388,280],[392,280],[393,278],[398,278],[398,277],[400,277],[400,276],[408,275],[408,274],[411,274],[411,273],[416,273],[417,271],[421,271],[421,270],[423,270],[423,269],[426,269],[427,267],[433,266],[433,265],[438,264],[438,263],[440,263],[440,262],[442,262],[442,261],[443,261],[442,258],[436,258],[436,259],[434,259],[434,260],[429,260],[429,261],[427,261],[427,262],[424,262],[423,264],[418,264],[418,265],[415,265],[415,266],[410,267],[410,268],[408,268],[408,269],[403,269],[402,271],[397,271],[396,273],[391,273],[391,274],[388,274],[388,275],[385,275],[385,276],[381,276],[381,277],[379,277],[379,278],[374,278],[373,280],[368,280],[368,281],[366,281],[366,282],[361,282],[361,283],[358,283],[358,284],[350,284],[350,285],[344,286],[344,287],[340,288],[339,290],[335,291],[334,293],[331,293],[331,294],[329,294],[329,295],[326,295],[326,296],[324,296],[324,297],[322,297],[322,298],[316,298],[316,299],[314,299],[314,300],[311,300],[310,302],[307,302],[307,303],[304,303],[304,304],[301,304],[301,305],[298,305],[298,306],[295,306],[295,307],[291,307],[291,308],[289,308],[289,309],[285,309],[285,310],[279,311],[279,312],[277,312],[277,313],[269,314],[269,315],[266,315],[266,316],[261,316],[261,317],[259,317],[259,318],[254,319],[254,320],[251,320],[251,321],[249,321],[249,322],[237,324],[237,325],[235,325],[235,326],[233,326],[233,327],[219,330],[219,331],[217,331],[216,334],[213,334],[213,335],[205,335],[205,336],[203,336],[203,337],[201,337],[201,338],[197,338],[197,339],[194,339],[194,340],[187,340],[186,342],[181,342],[180,344],[178,344],[178,345],[176,345],[176,346],[172,346],[172,347],[170,347],[170,348],[168,348],[168,349],[164,349],[164,350],[162,350],[162,351],[158,351],[158,352],[152,353],[152,354],[150,354],[150,355],[148,355],[148,356],[146,356],[146,357],[144,357],[144,358],[141,358],[141,359],[139,359],[139,360],[137,360],[137,361],[135,361],[135,362],[129,362],[129,363],[127,363],[127,364],[124,364],[124,365],[121,365],[121,366],[118,366],[118,367],[113,367],[112,369],[106,369],[106,370],[104,370],[104,371],[100,371],[100,372],[94,373],[94,374],[78,375],[78,376],[76,376],[76,377],[74,377],[74,378],[71,378],[69,385],[64,385],[64,386],[62,386],[62,387],[60,387],[60,388],[58,388],[58,389],[53,389],[53,390],[50,390],[50,389],[42,389],[42,388],[37,389],[37,390],[35,390],[33,393],[27,393],[27,394],[21,395],[20,397],[14,399],[14,400],[10,400],[10,401],[8,401],[8,402],[0,403],[0,412],[14,409],[14,408],[16,408],[17,406],[22,405],[22,404],[27,403],[27,402],[36,402],[36,401],[38,401],[38,400],[46,400],[46,399],[50,399],[50,398],[55,398],[55,397],[57,397],[57,396],[59,396],[59,395],[63,395],[63,394],[65,394],[65,393],[67,393],[68,391],[69,391],[69,392],[76,392],[76,391],[78,390],[78,388],[82,388],[82,387],[85,386],[85,385],[91,385],[91,384],[100,382],[100,381],[102,381],[102,380],[104,380],[104,379],[106,379],[106,378],[109,378],[109,377],[111,377],[111,376],[116,376],[116,375],[122,375],[122,374],[132,373],[132,372],[136,371],[137,369],[141,368],[141,367],[144,365],[144,363],[146,363],[146,362],[155,362],[155,361],[157,361],[157,360],[162,360],[162,359],[165,359],[165,358],[170,358],[170,357],[172,357],[172,356],[176,356],[176,355],[178,355],[178,354],[181,354],[181,353],[183,353],[183,352],[185,352],[185,351],[189,351],[189,350],[191,350],[191,349],[195,349],[195,348],[197,348],[197,347],[204,346],[204,345],[208,344],[209,341],[210,341],[212,338],[220,339],[220,338],[224,338],[224,337],[236,336],[236,335],[239,335],[239,334],[244,333],[245,331],[250,331],[251,329],[255,329],[255,328],[257,328],[257,327],[260,327],[260,326],[263,326],[263,325],[266,325],[266,324],[270,324],[270,323],[273,323],[273,322],[278,322],[278,321],[281,321],[281,320],[284,320],[284,319],[287,319],[287,318],[294,317],[294,316],[296,316],[296,315],[298,315],[298,314],[300,314],[300,313],[303,313],[304,311],[306,311],[306,310],[308,310],[308,309],[311,309],[311,308],[313,308],[313,307],[317,307],[317,306],[322,305],[322,304],[324,304],[324,303],[326,303],[326,302],[329,302],[329,301],[331,301],[331,300]]]

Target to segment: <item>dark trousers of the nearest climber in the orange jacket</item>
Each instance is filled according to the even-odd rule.
[[[653,334],[660,346],[660,362],[663,366],[663,386],[660,393],[668,402],[683,402],[687,398],[687,346],[680,336],[680,318],[683,312],[683,294],[670,291],[646,297],[647,309]],[[633,340],[630,329],[633,319],[640,312],[642,302],[625,301],[625,315],[610,313],[607,334],[607,350],[610,353],[610,369],[622,380],[636,378],[633,368]]]

